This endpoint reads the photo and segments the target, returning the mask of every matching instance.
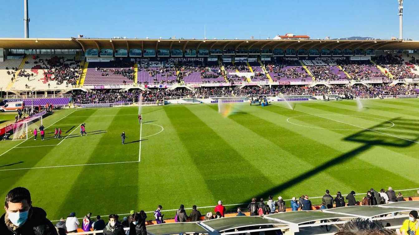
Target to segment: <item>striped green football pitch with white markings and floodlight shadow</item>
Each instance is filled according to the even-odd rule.
[[[252,197],[318,197],[325,189],[360,199],[392,186],[417,196],[418,100],[362,102],[226,105],[228,117],[217,105],[149,106],[142,125],[138,107],[58,110],[43,120],[46,140],[1,142],[0,195],[24,186],[51,220],[158,204],[196,204],[204,213],[218,200],[234,209]]]

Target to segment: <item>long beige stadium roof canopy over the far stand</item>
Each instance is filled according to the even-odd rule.
[[[375,49],[416,50],[419,41],[403,40],[202,40],[114,38],[0,38],[4,49]]]

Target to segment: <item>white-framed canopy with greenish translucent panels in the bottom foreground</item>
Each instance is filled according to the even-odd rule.
[[[288,234],[296,234],[300,232],[300,228],[314,229],[321,225],[342,225],[354,218],[390,221],[391,225],[393,225],[390,228],[394,229],[401,227],[400,219],[407,219],[411,210],[419,210],[419,201],[394,202],[379,206],[350,206],[315,211],[291,211],[264,216],[225,217],[199,222],[164,223],[148,225],[147,234],[202,233],[208,235],[232,235],[270,230],[288,230]],[[394,216],[392,215],[394,213],[400,213],[401,215]],[[381,217],[383,215],[388,216]],[[320,223],[320,220],[337,221]],[[74,235],[100,232],[102,231],[79,232],[74,233]],[[324,232],[320,233],[325,234]],[[316,233],[312,232],[311,234]]]

